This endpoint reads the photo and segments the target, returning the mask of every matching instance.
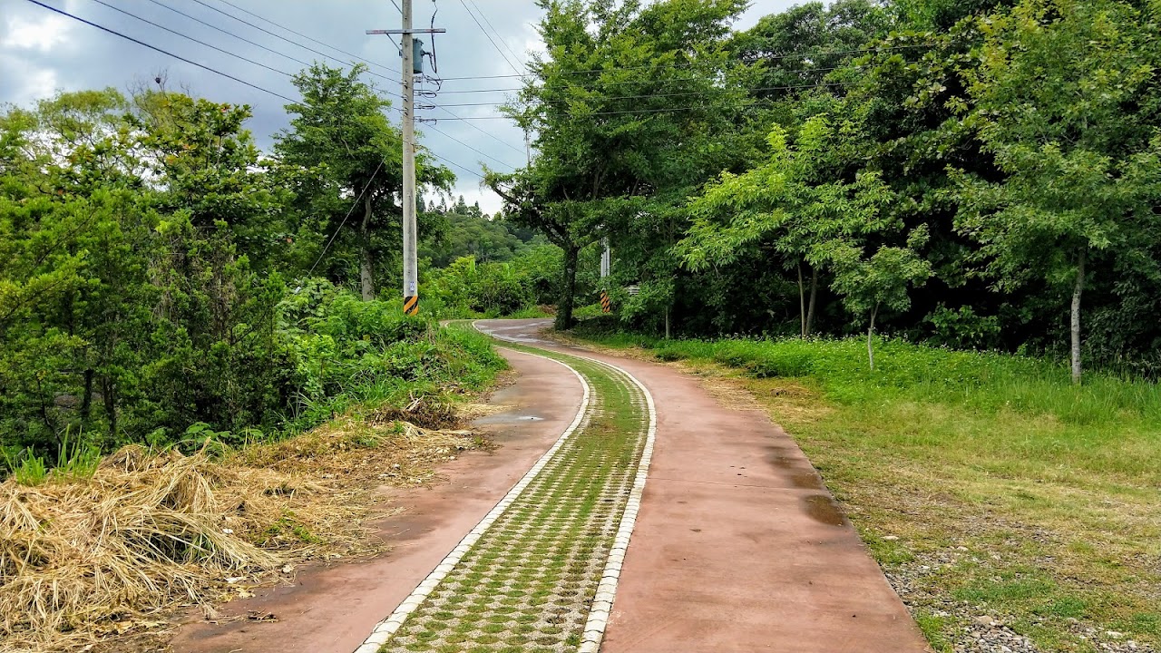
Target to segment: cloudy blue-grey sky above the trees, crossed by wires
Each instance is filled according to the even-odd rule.
[[[392,43],[397,37],[363,34],[366,29],[399,27],[399,12],[391,0],[38,1],[261,89],[29,0],[0,0],[0,103],[29,105],[57,91],[107,86],[124,91],[135,82],[152,82],[165,71],[171,89],[187,87],[217,101],[248,103],[254,112],[248,127],[259,144],[268,148],[271,136],[287,124],[286,100],[277,95],[296,98],[283,73],[297,72],[303,63],[323,59],[333,66],[366,60],[373,73],[368,80],[387,93],[399,88],[398,49]],[[735,27],[748,28],[760,16],[794,3],[756,0]],[[479,188],[481,162],[497,170],[512,170],[525,162],[522,134],[507,120],[495,119],[495,103],[519,86],[519,78],[497,76],[513,76],[512,65],[519,66],[528,51],[540,48],[534,28],[540,10],[532,0],[414,0],[414,7],[416,27],[426,27],[438,9],[435,26],[447,29],[435,41],[439,74],[445,81],[432,102],[441,108],[417,113],[439,119],[420,125],[424,143],[457,164],[449,166],[457,177],[457,193],[469,203],[478,200],[484,210],[495,211],[498,198]],[[425,49],[432,48],[428,44]]]

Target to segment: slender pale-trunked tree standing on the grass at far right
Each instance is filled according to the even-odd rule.
[[[1155,23],[1141,19],[1116,0],[1025,0],[981,21],[972,119],[1005,177],[958,175],[959,228],[997,288],[1068,288],[1074,383],[1086,285],[1101,273],[1161,279],[1148,251],[1161,137],[1135,110],[1161,57]]]

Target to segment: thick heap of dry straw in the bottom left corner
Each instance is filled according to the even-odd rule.
[[[85,481],[0,483],[0,639],[67,648],[166,604],[204,601],[225,577],[273,569],[282,558],[244,537],[269,507],[243,497],[281,482],[131,446]]]

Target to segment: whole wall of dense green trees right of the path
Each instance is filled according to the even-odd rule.
[[[726,0],[542,7],[510,108],[539,153],[489,181],[564,250],[558,324],[570,252],[610,237],[636,328],[1161,372],[1155,2],[839,0],[741,33]]]

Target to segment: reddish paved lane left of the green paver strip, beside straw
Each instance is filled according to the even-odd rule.
[[[316,566],[290,586],[255,589],[257,598],[223,608],[226,623],[200,615],[173,639],[176,653],[351,653],[535,464],[580,407],[580,381],[568,368],[505,351],[515,382],[492,395],[509,408],[477,421],[499,445],[469,451],[439,468],[446,482],[413,489],[384,488],[404,511],[381,521],[390,553],[372,560]],[[247,611],[277,622],[250,622]],[[231,617],[243,617],[230,622]]]

